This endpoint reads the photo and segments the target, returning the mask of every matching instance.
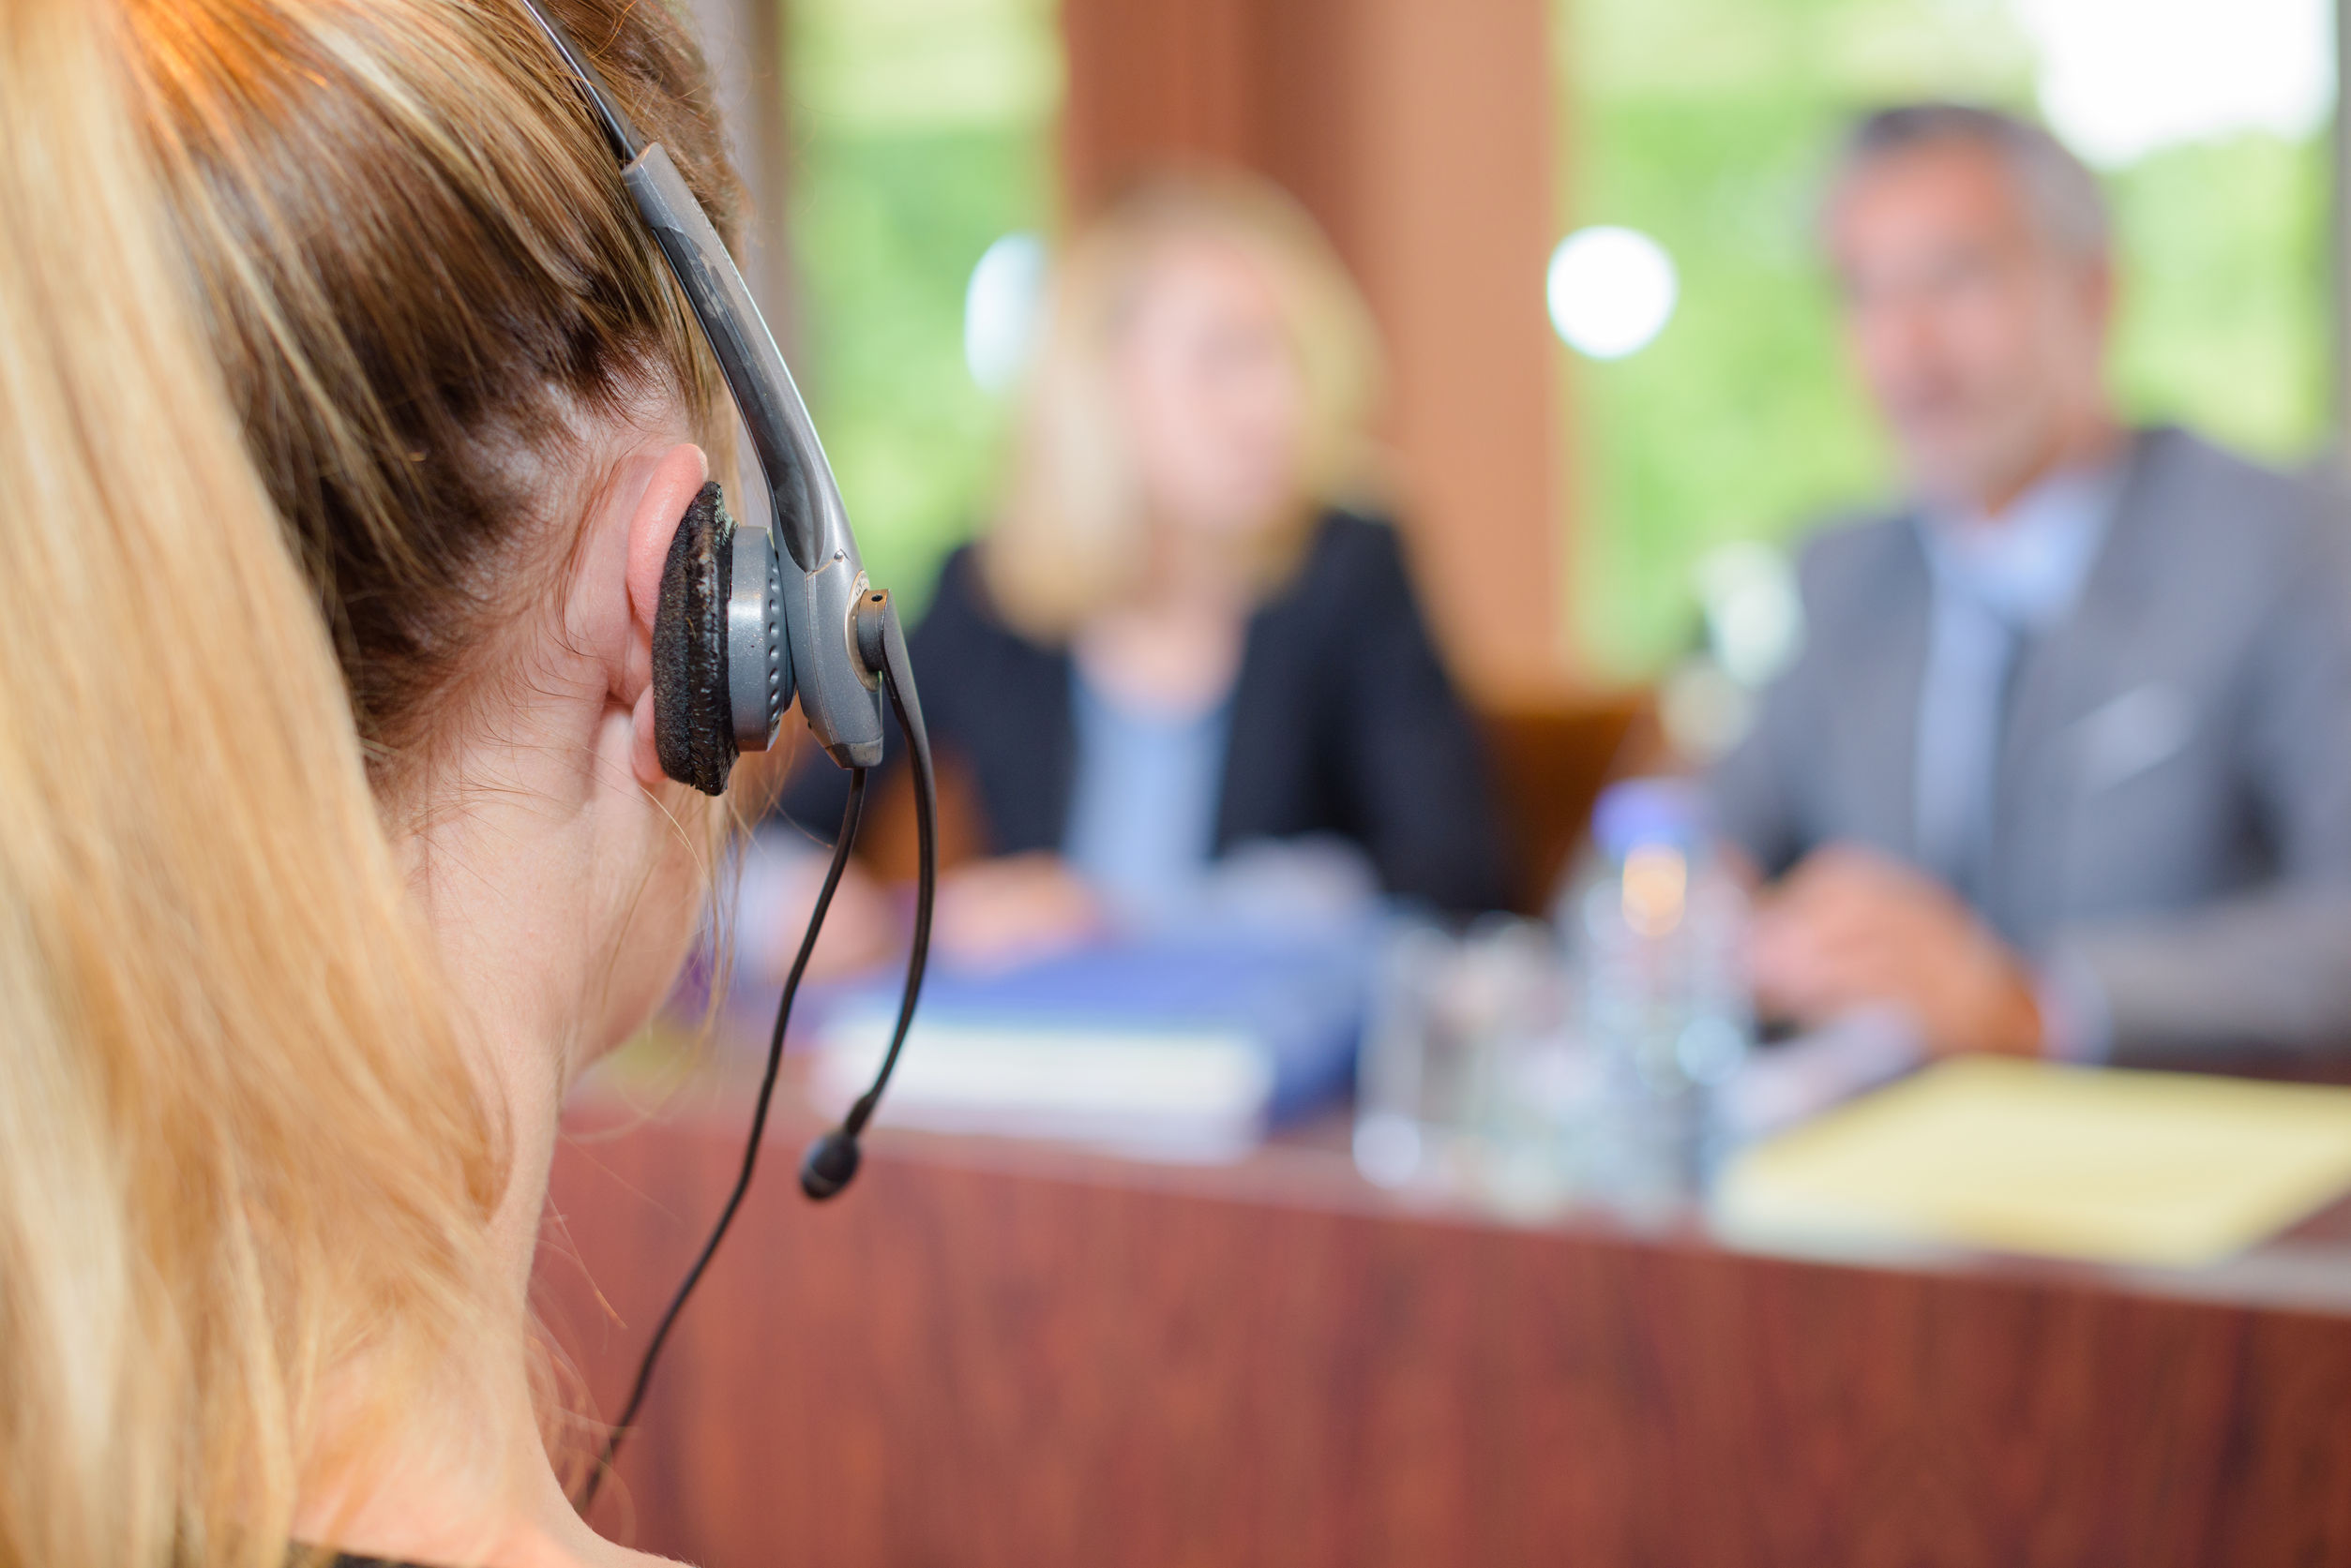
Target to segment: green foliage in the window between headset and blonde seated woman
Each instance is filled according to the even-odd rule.
[[[865,569],[919,609],[994,489],[964,284],[1053,214],[1053,2],[790,0],[788,49],[799,369]]]

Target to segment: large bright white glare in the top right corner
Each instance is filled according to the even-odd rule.
[[[2109,169],[2243,132],[2316,132],[2335,106],[2327,12],[2327,0],[2017,0],[2050,127]]]

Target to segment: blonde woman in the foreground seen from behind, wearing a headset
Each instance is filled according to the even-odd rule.
[[[665,12],[555,9],[726,212]],[[0,1563],[632,1561],[524,1288],[705,903],[715,371],[498,0],[7,0],[0,212]]]

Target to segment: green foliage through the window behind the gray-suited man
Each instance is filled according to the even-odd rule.
[[[1695,635],[1709,548],[1791,538],[1893,484],[1813,249],[1836,136],[1900,99],[2029,110],[2034,56],[1996,0],[1563,0],[1556,40],[1568,228],[1641,228],[1681,273],[1655,343],[1568,357],[1573,623],[1629,677]],[[2123,404],[2309,458],[2327,421],[2320,141],[2170,148],[2106,183]]]

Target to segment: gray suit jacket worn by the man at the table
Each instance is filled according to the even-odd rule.
[[[1930,578],[1909,517],[1801,564],[1806,649],[1716,769],[1766,872],[1918,860]],[[2010,689],[1982,914],[2088,976],[2118,1058],[2351,1046],[2351,538],[2318,487],[2135,437],[2074,614]]]

